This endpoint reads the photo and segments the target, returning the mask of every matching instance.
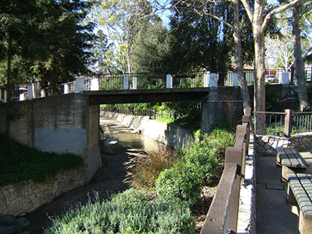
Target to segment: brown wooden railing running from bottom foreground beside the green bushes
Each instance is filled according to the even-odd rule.
[[[251,109],[236,127],[236,143],[225,151],[225,168],[218,190],[202,226],[201,234],[236,233],[239,216],[241,179],[245,176],[245,157],[250,140]]]

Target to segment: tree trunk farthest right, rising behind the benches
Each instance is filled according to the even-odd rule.
[[[295,54],[296,74],[299,86],[300,110],[308,107],[308,94],[306,93],[306,79],[304,77],[304,62],[302,60],[301,39],[300,39],[300,4],[293,7],[293,49]]]

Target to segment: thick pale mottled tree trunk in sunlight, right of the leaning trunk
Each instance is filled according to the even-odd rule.
[[[261,1],[260,1],[261,2]],[[266,63],[264,46],[263,5],[255,1],[254,20],[252,22],[252,31],[254,33],[254,110],[266,110]],[[266,116],[256,114],[254,116],[254,128],[257,134],[266,134]]]

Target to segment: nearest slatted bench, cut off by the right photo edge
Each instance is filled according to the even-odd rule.
[[[312,231],[312,175],[287,174],[288,178],[288,203],[300,208],[299,231],[301,234]]]

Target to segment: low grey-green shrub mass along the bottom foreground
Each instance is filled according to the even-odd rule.
[[[44,233],[193,233],[194,226],[189,208],[151,202],[146,192],[131,188],[111,201],[89,203],[68,212],[53,220]]]

